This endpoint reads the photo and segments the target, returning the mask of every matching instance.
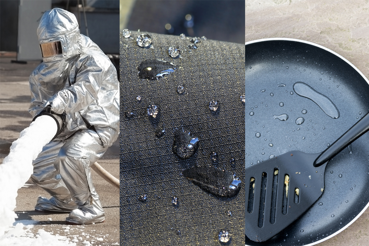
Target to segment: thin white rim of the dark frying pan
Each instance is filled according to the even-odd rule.
[[[330,52],[330,53],[338,56],[339,58],[341,58],[342,60],[344,60],[346,63],[348,63],[351,67],[353,67],[356,70],[356,72],[358,72],[363,77],[363,79],[366,81],[366,83],[369,84],[369,80],[365,77],[365,75],[363,75],[363,73],[355,65],[353,65],[351,62],[349,62],[346,58],[344,58],[343,56],[339,55],[338,53],[336,53],[336,52],[334,52],[334,51],[332,51],[332,50],[330,50],[330,49],[328,49],[328,48],[326,48],[324,46],[315,44],[313,42],[309,42],[309,41],[305,41],[305,40],[301,40],[301,39],[295,39],[295,38],[262,38],[262,39],[256,39],[256,40],[253,40],[253,41],[245,42],[245,46],[246,45],[249,45],[249,44],[264,42],[264,41],[295,41],[295,42],[309,44],[309,45],[313,45],[315,47],[324,49],[325,51],[328,51],[328,52]],[[368,204],[366,204],[366,206],[363,208],[363,210],[361,212],[359,212],[358,215],[355,216],[354,219],[352,219],[347,225],[345,225],[344,227],[342,227],[341,229],[339,229],[337,232],[332,233],[331,235],[327,236],[326,238],[320,239],[320,240],[318,240],[318,241],[316,241],[314,243],[306,244],[306,245],[303,245],[303,246],[317,245],[318,243],[324,242],[325,240],[328,240],[328,239],[334,237],[338,233],[340,233],[340,232],[344,231],[346,228],[348,228],[352,223],[354,223],[365,212],[365,210],[368,207],[369,207],[369,202],[368,202]],[[249,246],[249,245],[246,245],[246,243],[245,243],[245,246]]]

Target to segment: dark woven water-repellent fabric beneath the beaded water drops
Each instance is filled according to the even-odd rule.
[[[120,36],[120,244],[220,245],[218,235],[225,230],[231,233],[226,245],[244,245],[245,47],[201,40],[190,53],[188,38],[147,33],[152,44],[142,48],[136,42],[142,33]],[[182,58],[169,56],[173,45],[181,48]],[[137,68],[146,59],[163,59],[177,69],[158,80],[141,80]],[[179,85],[183,94],[177,93]],[[216,112],[209,109],[211,100],[219,103]],[[160,108],[156,118],[147,115],[152,103]],[[166,132],[158,138],[161,126]],[[172,152],[175,128],[199,138],[189,159]],[[214,151],[216,163],[210,157]],[[181,174],[196,165],[236,173],[241,191],[219,198],[201,190]],[[141,195],[147,200],[139,201]]]

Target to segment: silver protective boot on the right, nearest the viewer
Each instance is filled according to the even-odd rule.
[[[89,205],[83,205],[72,212],[65,219],[68,225],[87,225],[105,221],[105,212],[101,206],[100,199],[91,197]]]

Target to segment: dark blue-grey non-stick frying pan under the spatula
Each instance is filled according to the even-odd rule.
[[[296,39],[261,39],[245,48],[246,172],[271,155],[322,152],[369,111],[368,80],[329,49]],[[293,90],[296,82],[330,98],[339,118],[299,96]],[[286,121],[273,117],[282,114],[288,115]],[[304,118],[301,125],[295,122],[299,117]],[[354,222],[369,204],[369,134],[351,147],[328,163],[323,195],[305,214],[266,242],[245,237],[246,245],[314,245]]]

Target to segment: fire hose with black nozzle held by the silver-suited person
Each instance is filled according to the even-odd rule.
[[[52,113],[51,112],[51,107],[47,106],[47,107],[44,108],[43,111],[41,111],[38,115],[36,115],[36,117],[33,118],[32,121],[34,121],[37,117],[39,117],[41,115],[48,115],[48,116],[52,117],[55,120],[56,125],[57,125],[57,131],[56,131],[56,134],[55,134],[54,138],[56,138],[56,136],[58,136],[59,133],[62,132],[64,127],[65,127],[65,116],[62,115],[62,114]],[[91,168],[97,174],[99,174],[100,177],[102,177],[104,180],[108,181],[108,183],[112,184],[114,187],[119,188],[119,180],[117,178],[115,178],[113,175],[111,175],[108,171],[106,171],[103,167],[101,167],[99,163],[97,163],[97,162],[93,163],[91,165]]]

